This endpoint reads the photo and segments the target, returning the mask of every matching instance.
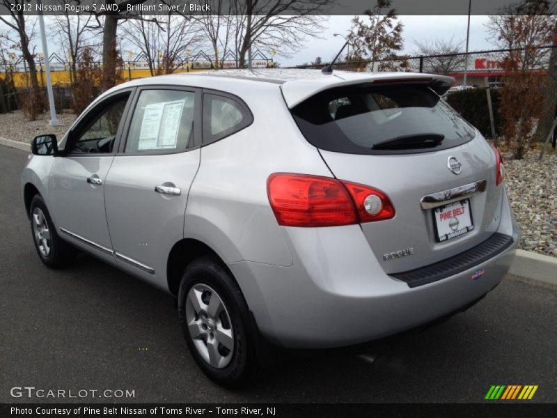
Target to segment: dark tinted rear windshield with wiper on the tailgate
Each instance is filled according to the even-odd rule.
[[[292,115],[311,144],[339,153],[430,152],[464,144],[475,135],[427,86],[333,88],[298,104]]]

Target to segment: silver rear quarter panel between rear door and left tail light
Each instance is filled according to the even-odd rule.
[[[278,171],[331,173],[317,149],[301,137],[278,84],[246,82],[235,88],[226,91],[246,102],[253,123],[201,149],[184,235],[205,242],[226,263],[290,266],[292,256],[267,198],[267,178]]]

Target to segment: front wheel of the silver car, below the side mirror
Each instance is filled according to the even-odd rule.
[[[61,240],[40,194],[33,196],[29,205],[33,243],[42,263],[49,268],[63,268],[69,265],[77,250],[68,242]]]

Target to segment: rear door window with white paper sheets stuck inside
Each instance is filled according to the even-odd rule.
[[[195,93],[143,90],[134,110],[125,153],[173,153],[193,141]],[[191,144],[190,144],[191,146]]]

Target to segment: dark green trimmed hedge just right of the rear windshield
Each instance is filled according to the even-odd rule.
[[[446,100],[453,109],[466,121],[474,125],[486,138],[493,137],[492,125],[489,120],[489,107],[487,107],[486,88],[470,88],[469,90],[455,91],[450,93]],[[493,117],[495,121],[495,133],[499,137],[502,134],[501,118],[499,109],[501,107],[501,90],[491,89]]]

